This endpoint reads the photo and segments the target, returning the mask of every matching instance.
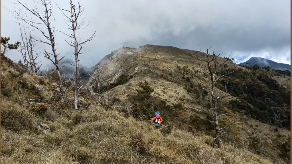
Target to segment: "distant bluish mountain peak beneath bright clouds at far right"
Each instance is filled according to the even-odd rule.
[[[248,59],[246,62],[242,62],[239,64],[245,65],[246,63],[249,63],[248,66],[258,64],[258,65],[260,65],[260,67],[270,66],[272,69],[275,69],[275,70],[279,69],[282,71],[285,71],[285,70],[291,71],[291,65],[274,62],[272,60],[268,60],[268,59],[265,59],[263,57],[254,57],[253,56],[250,59]]]

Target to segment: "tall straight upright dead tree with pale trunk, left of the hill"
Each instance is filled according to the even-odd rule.
[[[59,8],[59,7],[58,7]],[[60,9],[60,8],[59,8]],[[67,24],[69,26],[69,29],[72,30],[72,34],[67,35],[69,38],[73,39],[74,41],[71,41],[70,43],[68,41],[66,41],[70,46],[74,47],[74,55],[75,55],[75,65],[72,64],[74,67],[76,67],[76,78],[75,78],[75,97],[74,97],[74,109],[78,110],[78,99],[79,99],[79,89],[81,87],[79,87],[79,59],[78,59],[78,55],[79,54],[83,54],[81,51],[82,49],[82,45],[86,44],[88,41],[91,41],[95,35],[95,32],[93,33],[93,35],[91,35],[87,40],[85,41],[80,41],[81,39],[79,37],[77,37],[76,31],[78,29],[84,29],[86,28],[86,26],[88,25],[84,25],[84,22],[82,21],[83,19],[80,18],[80,16],[82,15],[84,9],[81,8],[81,5],[78,2],[78,6],[74,5],[72,3],[72,0],[70,0],[70,10],[65,10],[65,9],[60,9],[60,11],[64,14],[64,16],[66,17],[67,21],[71,24]],[[68,13],[68,14],[65,14]],[[78,39],[78,40],[77,40]],[[86,52],[84,52],[86,53]]]

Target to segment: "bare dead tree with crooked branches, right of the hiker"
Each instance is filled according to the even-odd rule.
[[[211,99],[212,105],[213,105],[213,108],[212,108],[213,121],[212,122],[215,124],[215,127],[214,127],[215,128],[215,136],[214,136],[215,140],[213,142],[213,147],[220,148],[221,135],[232,133],[232,132],[224,132],[224,130],[226,130],[226,128],[228,128],[230,125],[233,125],[237,120],[234,120],[232,123],[230,123],[229,125],[226,125],[223,128],[219,127],[218,118],[222,117],[222,116],[225,116],[228,113],[217,115],[217,110],[218,110],[217,102],[218,102],[218,100],[222,99],[223,97],[227,97],[230,94],[229,95],[224,95],[222,97],[219,96],[219,93],[218,93],[218,95],[216,95],[215,94],[215,84],[216,84],[217,81],[221,80],[224,76],[226,76],[228,74],[231,74],[232,72],[236,71],[237,65],[235,65],[235,67],[232,68],[232,69],[228,69],[226,72],[223,73],[223,75],[219,75],[218,76],[217,69],[219,67],[221,67],[223,64],[225,64],[225,62],[227,62],[227,60],[225,60],[222,63],[219,63],[216,59],[219,57],[220,54],[216,55],[216,53],[213,52],[213,55],[210,55],[210,53],[209,53],[210,48],[207,49],[207,53],[203,53],[201,51],[201,49],[200,49],[201,58],[198,58],[195,55],[193,55],[193,56],[195,58],[197,58],[198,60],[206,63],[206,66],[204,66],[204,67],[206,69],[208,69],[208,73],[210,75],[209,77],[210,77],[210,80],[211,80],[211,90],[208,90],[207,88],[203,88],[202,86],[201,86],[201,88],[206,90],[211,95],[211,97],[209,97],[209,98]]]

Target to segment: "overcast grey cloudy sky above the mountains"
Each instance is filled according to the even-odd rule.
[[[27,0],[30,6],[32,2]],[[69,3],[65,0],[52,0],[52,3],[56,29],[70,34],[56,6],[57,3],[69,9]],[[199,50],[201,43],[205,51],[210,43],[211,50],[221,57],[228,57],[232,52],[237,63],[252,56],[286,64],[291,61],[291,9],[287,0],[81,0],[80,3],[85,9],[84,21],[89,25],[78,31],[79,36],[86,39],[97,31],[95,38],[83,47],[88,53],[79,57],[80,63],[87,67],[122,46],[138,48],[145,44]],[[20,30],[4,7],[17,10],[19,6],[1,0],[1,36],[9,36],[10,43],[14,43],[19,39]],[[38,31],[31,33],[43,39]],[[57,33],[58,52],[72,59],[73,48],[64,39],[69,40]],[[39,53],[50,49],[44,43],[36,44],[35,50]],[[15,50],[7,56],[22,59]],[[49,62],[44,55],[39,59],[44,65]]]

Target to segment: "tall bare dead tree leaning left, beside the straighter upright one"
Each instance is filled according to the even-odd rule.
[[[63,88],[63,78],[60,74],[60,67],[59,67],[59,62],[64,58],[62,57],[61,59],[58,60],[58,55],[56,50],[57,48],[55,48],[56,44],[55,44],[55,18],[54,18],[54,15],[53,15],[53,12],[52,12],[52,5],[51,5],[51,1],[49,0],[41,0],[40,2],[36,2],[37,4],[40,4],[41,6],[43,6],[43,8],[39,8],[38,6],[34,6],[34,7],[30,7],[28,6],[26,3],[22,3],[18,0],[15,0],[16,3],[15,4],[19,4],[20,6],[22,6],[24,9],[23,10],[20,10],[20,12],[16,12],[16,11],[13,11],[13,16],[29,25],[30,27],[33,27],[35,30],[39,31],[42,36],[44,36],[44,38],[47,40],[47,41],[44,41],[44,40],[37,40],[35,38],[32,38],[34,39],[35,41],[39,41],[39,42],[42,42],[42,43],[46,43],[48,44],[49,46],[52,47],[52,53],[49,53],[47,52],[46,50],[44,50],[44,54],[45,54],[45,57],[47,59],[49,59],[56,67],[56,72],[58,74],[58,88],[60,89],[60,93],[62,95],[62,98],[65,102],[68,102],[67,100],[67,96],[65,94],[65,91],[64,88]],[[28,18],[28,16],[30,16],[30,18]],[[32,18],[34,17],[35,20]],[[53,23],[54,21],[54,23]],[[53,23],[53,24],[52,24]],[[42,26],[42,27],[41,27]],[[47,29],[48,33],[45,33],[45,31],[43,31],[43,27],[45,27],[45,29]],[[50,55],[53,56],[54,60],[50,58]]]

